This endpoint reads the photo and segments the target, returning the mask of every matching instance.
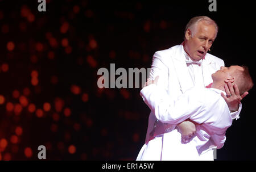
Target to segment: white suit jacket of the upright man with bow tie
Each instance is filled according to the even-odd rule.
[[[204,86],[208,86],[212,83],[212,74],[219,70],[221,66],[224,66],[224,61],[207,53],[201,65],[203,68]],[[183,45],[176,45],[169,49],[155,52],[152,59],[149,78],[155,79],[157,75],[159,75],[159,89],[166,90],[167,94],[172,98],[179,97],[179,95],[185,93],[186,90],[194,86],[185,62],[185,51]],[[232,118],[238,119],[240,111],[241,104],[239,110],[232,113]],[[145,143],[152,139],[152,135],[154,137],[170,132],[175,129],[175,127],[176,124],[170,125],[160,122],[156,123],[155,114],[151,111],[150,116],[148,117],[148,128]]]

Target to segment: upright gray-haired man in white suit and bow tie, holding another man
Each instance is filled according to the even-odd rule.
[[[154,54],[150,79],[159,75],[159,88],[166,90],[171,98],[179,97],[193,86],[208,86],[212,83],[212,73],[224,66],[223,60],[207,53],[217,32],[217,24],[207,16],[192,18],[185,28],[184,42],[181,45]],[[242,98],[247,94],[246,91]],[[232,119],[238,119],[241,111],[240,95],[234,94],[225,100],[232,112]],[[161,123],[151,112],[145,145],[158,153],[155,154],[155,160],[161,160],[165,140],[176,140],[181,134],[183,140],[187,141],[195,131],[196,125],[189,120],[177,125]],[[163,135],[164,133],[168,135]],[[213,149],[201,154],[200,158],[213,160]]]

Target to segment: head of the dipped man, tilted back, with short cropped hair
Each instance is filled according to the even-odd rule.
[[[253,79],[251,79],[247,66],[222,66],[220,70],[212,74],[213,85],[223,87],[227,83],[238,86],[240,95],[249,91],[253,87]]]

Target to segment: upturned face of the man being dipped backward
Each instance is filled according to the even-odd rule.
[[[243,71],[243,68],[241,66],[230,66],[228,68],[221,66],[220,70],[212,74],[212,79],[218,82],[233,82],[236,70]]]

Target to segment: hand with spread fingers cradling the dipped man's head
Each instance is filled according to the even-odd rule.
[[[240,101],[249,93],[246,91],[245,93],[240,95],[240,91],[236,83],[233,86],[231,83],[228,83],[228,85],[224,85],[224,89],[226,95],[221,93],[221,96],[226,101],[226,104],[228,104],[229,110],[231,112],[238,111]]]

